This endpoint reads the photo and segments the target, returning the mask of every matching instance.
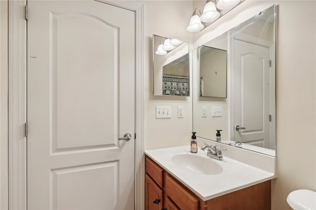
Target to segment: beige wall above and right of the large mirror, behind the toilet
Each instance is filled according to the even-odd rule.
[[[195,33],[194,47],[275,3],[277,178],[272,182],[272,209],[290,210],[286,203],[289,192],[316,191],[316,1],[246,0]],[[194,4],[199,6],[200,1]]]

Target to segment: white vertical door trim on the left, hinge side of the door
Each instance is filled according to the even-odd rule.
[[[26,21],[25,0],[9,1],[8,158],[9,209],[26,209]]]

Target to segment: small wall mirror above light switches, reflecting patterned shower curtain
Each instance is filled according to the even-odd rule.
[[[189,43],[153,35],[155,96],[190,96]]]

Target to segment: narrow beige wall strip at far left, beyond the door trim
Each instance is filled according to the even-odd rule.
[[[8,1],[0,0],[0,209],[8,209]]]

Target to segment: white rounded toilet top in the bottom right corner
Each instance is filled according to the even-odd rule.
[[[294,190],[286,201],[293,210],[316,210],[316,192],[312,190]]]

